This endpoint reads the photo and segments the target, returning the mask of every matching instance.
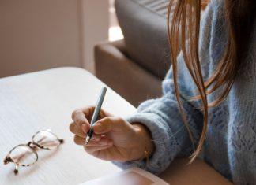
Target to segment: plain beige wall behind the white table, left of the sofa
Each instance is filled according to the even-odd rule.
[[[85,25],[95,22],[84,7],[92,2],[104,2],[93,11],[104,17],[101,32],[93,36],[107,39],[107,17],[100,13],[107,9],[107,0],[0,0],[0,77],[58,66],[91,66],[92,71],[93,60],[85,55],[93,54],[85,51],[99,39],[85,35],[100,24]]]

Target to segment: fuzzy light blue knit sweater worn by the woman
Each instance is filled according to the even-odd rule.
[[[239,69],[228,97],[209,109],[209,124],[203,157],[218,172],[235,184],[256,184],[256,26],[254,21],[247,57]],[[227,40],[224,4],[212,0],[201,20],[200,59],[205,79],[215,70]],[[184,99],[197,94],[196,87],[179,54],[179,90]],[[209,95],[212,102],[220,91]],[[203,116],[199,101],[183,101],[187,121],[195,139],[199,139]],[[163,81],[163,96],[143,102],[137,113],[127,118],[141,122],[152,133],[156,150],[145,161],[114,162],[122,168],[138,166],[149,172],[163,172],[175,157],[189,156],[192,146],[179,113],[172,72]]]

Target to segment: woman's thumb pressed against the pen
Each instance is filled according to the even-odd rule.
[[[93,125],[93,131],[96,134],[104,134],[109,131],[122,131],[124,128],[124,120],[119,117],[104,117],[101,120],[98,120]]]

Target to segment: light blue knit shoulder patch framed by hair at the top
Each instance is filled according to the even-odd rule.
[[[224,53],[228,39],[225,22],[224,1],[212,0],[202,14],[199,35],[199,57],[205,79],[209,78]]]

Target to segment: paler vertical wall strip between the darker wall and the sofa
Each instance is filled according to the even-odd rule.
[[[94,72],[93,48],[108,39],[108,0],[80,0],[81,7],[81,61],[82,66]],[[92,18],[93,17],[93,18]]]

